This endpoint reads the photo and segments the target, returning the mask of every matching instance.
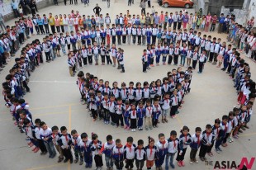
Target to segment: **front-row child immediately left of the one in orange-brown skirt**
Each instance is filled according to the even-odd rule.
[[[138,146],[135,148],[135,164],[138,170],[142,170],[145,163],[145,148],[144,141],[142,139],[138,140]]]

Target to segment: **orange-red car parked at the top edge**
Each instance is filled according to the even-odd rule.
[[[164,7],[193,7],[192,0],[158,0],[160,6]]]

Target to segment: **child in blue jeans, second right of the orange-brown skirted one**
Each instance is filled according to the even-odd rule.
[[[177,153],[178,143],[179,143],[179,139],[177,138],[177,132],[175,130],[171,131],[170,138],[167,141],[168,141],[168,153],[165,159],[166,170],[168,170],[168,164],[170,164],[171,168],[175,168],[173,164],[173,158]]]

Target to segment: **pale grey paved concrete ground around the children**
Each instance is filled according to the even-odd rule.
[[[107,4],[101,1],[94,1],[89,7],[67,6],[60,4],[58,7],[47,7],[40,10],[40,14],[53,12],[53,14],[68,13],[71,9],[78,10],[81,14],[92,14],[92,7],[95,7],[95,3],[98,2],[102,7],[102,13],[109,12],[113,21],[116,14],[119,12],[125,13],[127,9],[130,13],[140,13],[139,1],[135,0],[135,5],[127,7],[126,2],[111,1],[111,8],[107,8]],[[164,9],[159,7],[153,2],[156,11],[161,10],[168,12],[178,11],[179,8]],[[146,11],[149,11],[147,9]],[[189,11],[193,11],[192,9]],[[7,24],[12,24],[14,20],[8,21]],[[211,33],[217,37],[221,37],[225,40],[225,35],[217,35]],[[35,39],[33,36],[31,39]],[[38,36],[40,40],[42,35]],[[30,40],[31,40],[30,39]],[[156,80],[157,78],[163,78],[166,73],[173,68],[172,66],[159,66],[149,70],[148,73],[142,73],[142,65],[140,62],[140,56],[143,46],[126,45],[122,46],[125,50],[125,67],[126,73],[119,73],[116,68],[111,66],[88,66],[83,68],[83,72],[93,73],[98,78],[113,81],[126,82],[130,80],[137,82],[144,82]],[[19,54],[19,53],[17,53]],[[253,73],[253,79],[256,80],[256,68],[255,64],[251,60],[246,59],[251,66],[251,72]],[[14,61],[7,65],[4,71],[0,74],[0,79],[3,81],[7,75],[8,69],[12,67]],[[185,69],[185,68],[184,68]],[[176,119],[168,118],[168,124],[160,124],[159,128],[150,131],[137,131],[131,133],[121,128],[114,128],[111,125],[104,125],[102,122],[92,122],[92,118],[86,111],[85,106],[79,102],[79,92],[75,85],[76,78],[69,77],[69,70],[67,66],[67,58],[63,56],[51,62],[50,64],[41,64],[39,68],[31,76],[31,93],[26,94],[26,102],[29,102],[31,106],[31,113],[34,119],[39,117],[44,120],[50,127],[53,125],[66,125],[70,130],[76,129],[78,133],[91,132],[97,133],[99,139],[105,142],[105,138],[108,134],[113,135],[114,139],[120,138],[123,144],[126,144],[126,137],[131,135],[137,143],[138,139],[144,139],[147,144],[147,137],[150,135],[157,140],[159,133],[163,132],[165,135],[169,135],[171,130],[179,131],[183,125],[187,125],[191,129],[191,134],[194,133],[194,129],[197,126],[201,126],[204,129],[205,125],[213,124],[213,120],[227,114],[231,111],[233,106],[236,105],[236,94],[233,88],[232,81],[228,76],[220,71],[216,66],[206,64],[204,73],[193,74],[192,78],[192,92],[185,97],[185,104],[183,109]],[[1,103],[3,103],[1,97]],[[254,106],[255,111],[255,106]],[[47,156],[40,156],[39,153],[32,153],[31,149],[26,146],[26,135],[20,134],[17,127],[13,125],[12,117],[9,114],[7,108],[0,107],[0,133],[2,134],[0,143],[0,164],[1,169],[83,169],[83,166],[78,164],[69,165],[68,163],[57,163],[57,159],[49,159]],[[207,158],[212,161],[222,160],[235,160],[240,161],[242,157],[254,157],[255,152],[255,123],[254,116],[249,123],[249,130],[246,130],[238,140],[224,150],[223,153],[215,153],[212,158]],[[198,164],[189,165],[189,151],[186,154],[185,163],[186,167],[183,169],[213,169],[213,167],[206,167],[205,163],[199,162]],[[104,163],[105,164],[105,163]],[[176,167],[177,164],[175,163]],[[145,168],[144,168],[145,169]],[[256,165],[254,165],[256,169]]]

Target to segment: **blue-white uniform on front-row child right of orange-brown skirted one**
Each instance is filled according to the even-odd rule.
[[[164,140],[163,143],[158,141],[156,144],[156,148],[158,149],[158,156],[157,156],[158,159],[156,159],[154,162],[155,162],[156,168],[161,168],[162,165],[164,164],[164,159],[168,152],[168,141]]]

